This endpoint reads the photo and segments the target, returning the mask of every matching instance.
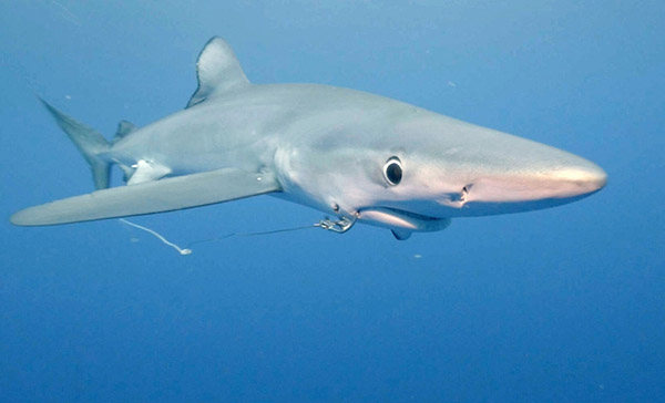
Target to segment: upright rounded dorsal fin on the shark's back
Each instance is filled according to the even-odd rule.
[[[187,103],[192,107],[209,97],[249,84],[233,50],[219,37],[203,46],[196,62],[198,87]]]

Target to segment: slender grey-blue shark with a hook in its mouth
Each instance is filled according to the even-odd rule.
[[[530,211],[592,195],[594,163],[555,147],[367,92],[253,84],[212,38],[184,110],[109,141],[42,100],[90,165],[95,190],[13,214],[50,226],[172,211],[258,195],[313,207],[319,226],[389,229],[403,240],[451,219]],[[110,187],[112,166],[125,185]]]

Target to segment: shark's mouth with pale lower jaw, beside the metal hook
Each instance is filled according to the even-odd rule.
[[[410,231],[438,231],[450,225],[450,218],[436,218],[392,207],[367,207],[357,218],[367,224]]]

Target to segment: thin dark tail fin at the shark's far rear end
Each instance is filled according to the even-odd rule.
[[[90,164],[95,188],[104,189],[109,187],[111,163],[101,158],[99,155],[109,151],[109,148],[111,148],[111,144],[94,128],[76,122],[74,118],[57,110],[47,101],[42,99],[40,99],[40,101],[55,118],[55,122],[60,128],[66,133],[74,145],[79,148],[81,154],[83,154],[83,157],[88,164]]]

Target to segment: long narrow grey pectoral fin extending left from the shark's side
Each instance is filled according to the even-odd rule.
[[[96,190],[16,213],[11,223],[45,226],[211,205],[282,190],[273,174],[224,168]]]

